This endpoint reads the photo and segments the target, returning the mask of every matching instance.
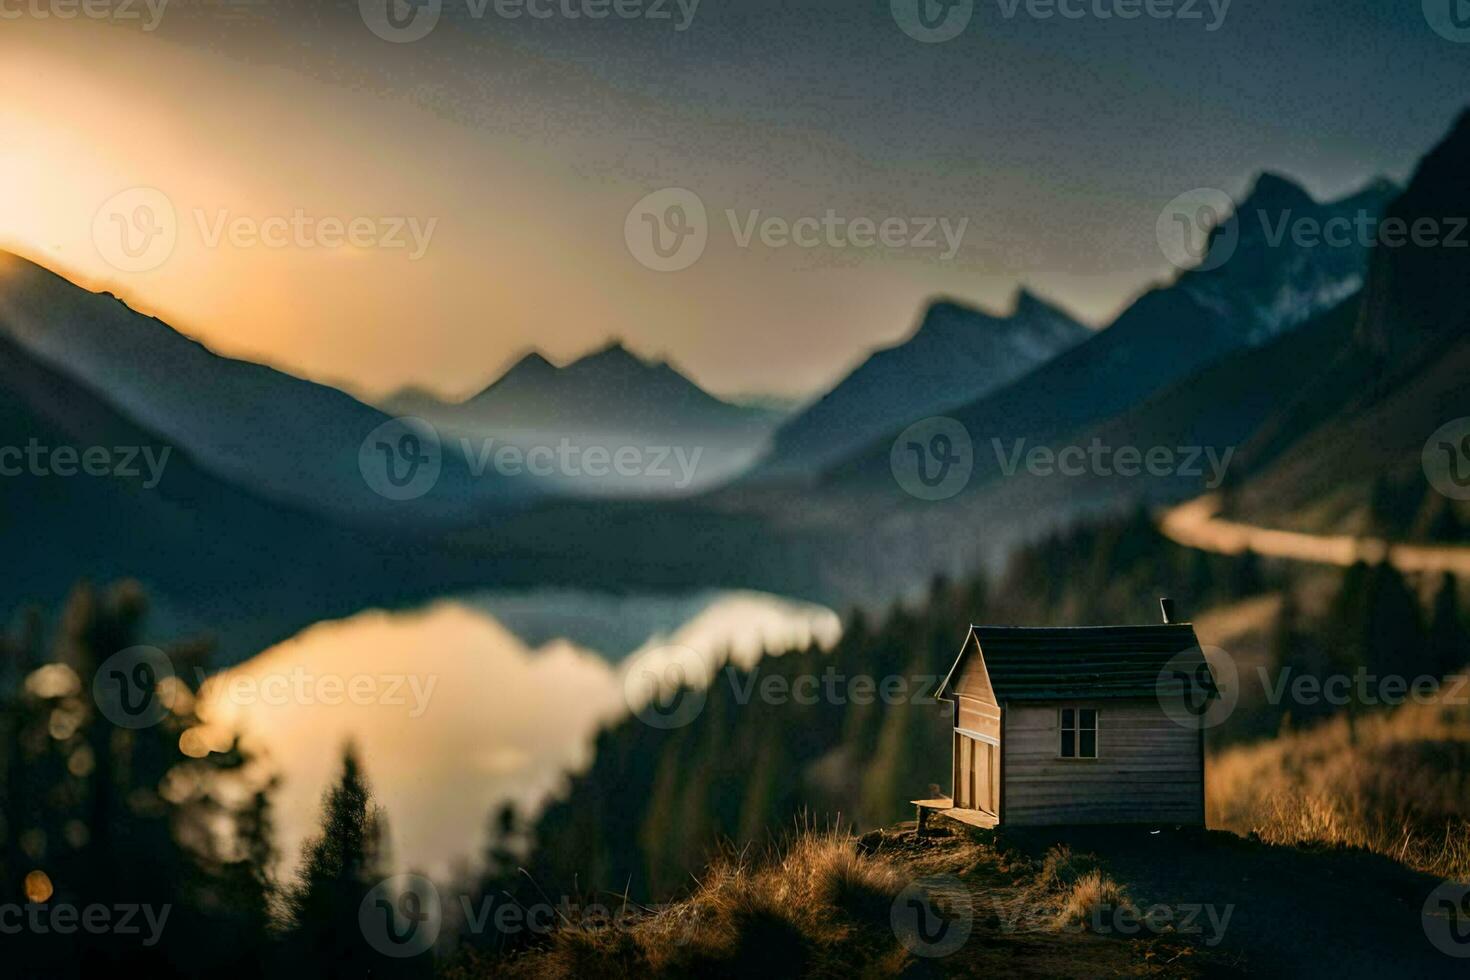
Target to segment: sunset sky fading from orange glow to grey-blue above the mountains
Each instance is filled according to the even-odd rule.
[[[1176,195],[1470,103],[1449,0],[387,1],[0,0],[0,247],[368,398],[610,338],[808,397],[936,295],[1105,325]]]

